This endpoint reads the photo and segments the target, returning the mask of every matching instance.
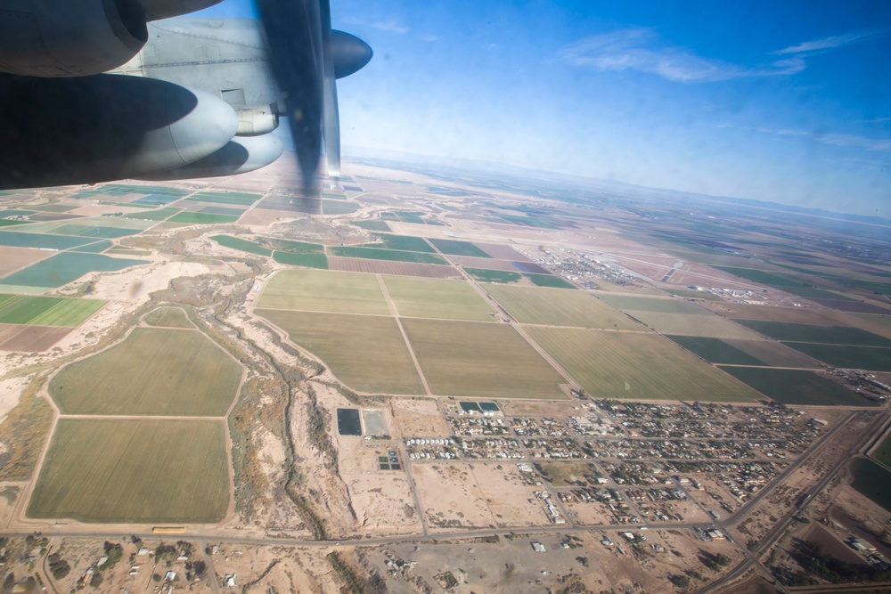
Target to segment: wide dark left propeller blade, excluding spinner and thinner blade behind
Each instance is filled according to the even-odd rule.
[[[322,154],[323,31],[331,30],[331,8],[325,0],[256,2],[266,28],[273,74],[286,95],[304,190],[311,195]]]

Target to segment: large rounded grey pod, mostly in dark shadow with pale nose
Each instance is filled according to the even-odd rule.
[[[222,99],[151,78],[0,75],[0,89],[0,190],[183,167],[238,128]]]

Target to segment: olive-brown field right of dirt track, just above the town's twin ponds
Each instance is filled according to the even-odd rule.
[[[409,343],[436,395],[483,398],[566,396],[566,380],[507,324],[404,319]]]

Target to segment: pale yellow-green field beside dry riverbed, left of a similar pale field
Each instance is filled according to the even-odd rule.
[[[389,315],[376,276],[317,270],[282,270],[263,289],[257,307],[308,312]]]

